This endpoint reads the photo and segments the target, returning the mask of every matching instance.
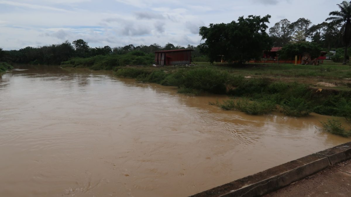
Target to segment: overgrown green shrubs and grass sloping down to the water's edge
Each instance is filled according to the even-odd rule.
[[[272,65],[276,67],[278,65]],[[282,65],[281,65],[282,66]],[[284,64],[289,67],[289,64]],[[284,67],[283,66],[283,67]],[[333,67],[332,65],[330,65]],[[187,94],[196,94],[201,91],[214,94],[227,94],[245,99],[218,102],[218,106],[225,110],[240,110],[248,114],[267,114],[279,109],[289,116],[305,116],[311,112],[324,115],[333,115],[351,118],[351,91],[347,84],[343,88],[322,89],[310,87],[303,82],[282,80],[278,76],[258,74],[252,78],[245,78],[252,70],[269,68],[246,68],[246,73],[239,69],[225,69],[225,66],[207,65],[193,67],[122,67],[116,69],[116,75],[136,78],[139,82],[159,83],[165,86],[177,86],[179,91]],[[309,69],[310,66],[304,66]],[[319,66],[320,67],[320,66]],[[287,72],[289,72],[289,69]],[[345,66],[346,70],[350,68]],[[275,70],[283,70],[278,68]],[[285,72],[285,71],[284,71]],[[306,73],[306,70],[299,71]],[[318,69],[316,73],[320,72]],[[308,73],[308,72],[307,72]],[[338,72],[337,72],[338,73]],[[340,75],[333,73],[328,75],[331,80],[338,79]],[[290,74],[294,75],[294,72]],[[340,73],[339,73],[340,74]],[[306,75],[304,75],[306,76]],[[313,74],[314,76],[314,74]],[[305,79],[304,77],[302,79]],[[340,82],[341,83],[341,82]]]

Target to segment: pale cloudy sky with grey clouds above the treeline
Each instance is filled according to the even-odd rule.
[[[239,16],[323,22],[342,0],[0,0],[5,50],[83,39],[91,47],[198,45],[200,26]]]

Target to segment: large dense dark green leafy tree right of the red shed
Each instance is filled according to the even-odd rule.
[[[199,34],[204,43],[200,45],[201,52],[206,54],[210,62],[224,55],[228,62],[244,61],[259,58],[263,50],[272,47],[271,38],[266,33],[270,15],[264,17],[250,15],[239,17],[238,21],[230,23],[210,24],[200,27]]]

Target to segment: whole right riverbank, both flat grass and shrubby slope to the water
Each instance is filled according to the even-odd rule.
[[[219,101],[225,110],[248,114],[266,114],[280,109],[285,115],[305,116],[311,112],[351,117],[350,66],[327,62],[323,66],[293,64],[228,64],[198,63],[196,66],[116,67],[116,75],[177,86],[179,93],[201,91],[244,97]],[[336,81],[332,83],[332,81]],[[258,107],[263,106],[258,109]],[[256,111],[252,111],[257,109]]]

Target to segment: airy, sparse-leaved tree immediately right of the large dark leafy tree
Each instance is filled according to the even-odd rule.
[[[290,21],[282,19],[269,29],[272,36],[273,44],[277,47],[283,47],[291,41],[293,30],[290,28]]]

